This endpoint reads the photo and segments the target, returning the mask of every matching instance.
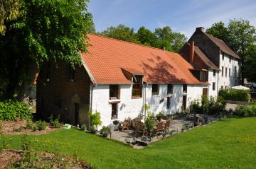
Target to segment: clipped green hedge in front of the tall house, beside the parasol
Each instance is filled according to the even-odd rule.
[[[248,90],[236,90],[236,89],[221,89],[219,96],[225,100],[235,100],[247,102],[250,100],[250,94]]]

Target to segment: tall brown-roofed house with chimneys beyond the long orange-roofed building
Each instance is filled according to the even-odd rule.
[[[225,42],[205,33],[203,27],[196,28],[180,53],[197,69],[193,74],[210,83],[208,95],[217,96],[220,88],[240,85],[240,57]]]

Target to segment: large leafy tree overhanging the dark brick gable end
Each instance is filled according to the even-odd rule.
[[[93,25],[88,1],[21,0],[23,15],[6,20],[6,34],[0,35],[0,86],[6,98],[15,93],[27,98],[36,72],[47,62],[82,64],[79,52],[86,52],[86,33]]]

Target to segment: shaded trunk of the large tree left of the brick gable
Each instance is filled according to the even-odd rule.
[[[21,90],[18,92],[18,100],[22,102],[28,103],[29,101],[29,95],[31,94],[32,87],[33,87],[33,82],[36,77],[36,73],[38,73],[38,67],[36,66],[35,63],[31,62],[28,66],[28,81],[23,83]]]

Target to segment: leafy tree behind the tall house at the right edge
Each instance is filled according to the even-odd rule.
[[[250,25],[249,21],[240,18],[239,20],[230,20],[228,28],[222,22],[214,23],[211,28],[206,30],[206,33],[220,38],[239,54],[242,59],[242,84],[244,78],[251,78],[252,74],[248,70],[253,68],[251,65],[253,62],[249,61],[255,58],[255,27]]]

